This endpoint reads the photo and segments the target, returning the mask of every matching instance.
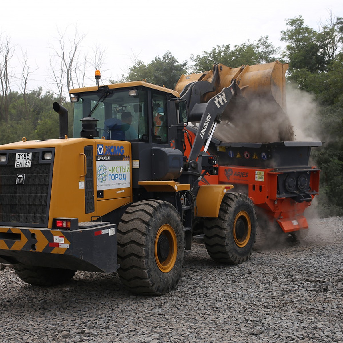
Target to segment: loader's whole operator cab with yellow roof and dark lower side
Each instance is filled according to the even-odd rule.
[[[141,187],[140,181],[177,179],[181,175],[184,122],[178,119],[178,92],[135,81],[76,88],[70,95],[74,138],[131,143],[133,188]],[[84,130],[88,121],[93,127]]]

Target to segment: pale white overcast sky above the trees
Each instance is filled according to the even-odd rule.
[[[118,79],[134,57],[149,63],[167,50],[184,62],[216,45],[233,46],[266,35],[275,46],[284,47],[280,32],[286,29],[285,19],[301,15],[305,24],[317,29],[330,11],[343,17],[343,1],[1,0],[0,33],[2,39],[10,37],[18,57],[21,49],[27,51],[28,64],[36,69],[29,83],[32,89],[51,83],[49,46],[56,45],[58,29],[64,32],[76,25],[86,35],[82,50],[88,55],[97,45],[106,48],[106,80]],[[16,58],[11,65],[20,74]],[[93,85],[94,71],[89,73],[87,85]]]

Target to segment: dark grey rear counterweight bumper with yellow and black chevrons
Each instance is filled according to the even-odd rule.
[[[0,227],[0,260],[112,273],[118,268],[116,225],[99,222],[77,230]]]

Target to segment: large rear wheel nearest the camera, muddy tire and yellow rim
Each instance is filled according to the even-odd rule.
[[[137,294],[161,295],[175,289],[184,262],[184,236],[181,218],[170,203],[133,203],[118,225],[118,273],[122,283]]]

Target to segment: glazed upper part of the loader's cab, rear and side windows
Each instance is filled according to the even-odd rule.
[[[103,86],[95,91],[89,88],[79,88],[83,92],[75,92],[76,96],[71,97],[74,102],[74,137],[80,137],[81,119],[93,117],[97,120],[99,138],[169,142],[166,93],[146,87],[111,89]]]

